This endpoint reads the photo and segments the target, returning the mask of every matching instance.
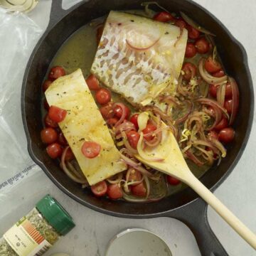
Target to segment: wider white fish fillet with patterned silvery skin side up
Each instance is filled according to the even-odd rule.
[[[134,105],[178,80],[188,33],[169,23],[110,11],[91,72]]]

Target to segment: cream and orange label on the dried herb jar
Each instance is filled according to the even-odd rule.
[[[52,246],[26,217],[10,228],[4,239],[19,256],[40,256]]]

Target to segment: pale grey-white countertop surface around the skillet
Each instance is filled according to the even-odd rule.
[[[63,0],[67,9],[72,3],[79,0]],[[247,50],[252,80],[256,85],[256,1],[255,0],[196,0],[228,27],[235,38]],[[50,14],[50,0],[40,0],[38,6],[28,14],[44,30],[48,24]],[[0,24],[1,25],[1,24]],[[1,44],[0,44],[1,46]],[[11,46],[10,46],[11,47]],[[4,63],[4,59],[0,59]],[[23,63],[26,65],[26,63]],[[0,84],[1,86],[1,84]],[[1,89],[1,87],[0,87]],[[0,90],[1,91],[1,90]],[[1,97],[1,96],[0,96]],[[20,122],[20,120],[19,120]],[[22,124],[21,124],[22,125]],[[0,130],[1,133],[1,130]],[[22,134],[22,136],[24,136]],[[252,231],[256,233],[256,125],[252,127],[249,143],[242,158],[234,171],[215,191],[220,201],[230,208]],[[26,146],[24,145],[24,149]],[[7,166],[8,167],[8,166]],[[0,236],[28,212],[36,201],[50,193],[51,196],[68,210],[73,216],[76,227],[58,242],[50,252],[66,252],[72,256],[104,256],[108,241],[120,231],[130,227],[146,228],[160,235],[171,247],[174,256],[198,256],[200,252],[191,231],[178,220],[171,218],[154,218],[146,220],[131,220],[114,218],[97,213],[81,206],[61,192],[46,177],[43,171],[34,168],[35,174],[21,180],[8,193],[8,203],[4,201],[0,191]],[[0,169],[1,173],[1,169]],[[31,186],[26,186],[30,181]],[[34,181],[34,182],[32,182]],[[5,195],[4,195],[5,196]],[[21,205],[18,209],[16,205]],[[1,214],[1,209],[8,208],[8,215]],[[247,245],[213,210],[209,208],[208,218],[210,227],[230,255],[252,256],[256,252]]]

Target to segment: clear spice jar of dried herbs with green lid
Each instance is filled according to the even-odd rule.
[[[43,255],[74,227],[65,209],[47,195],[0,238],[0,255]]]

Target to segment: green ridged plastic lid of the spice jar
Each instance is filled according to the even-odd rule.
[[[36,204],[36,208],[40,211],[50,225],[61,235],[65,235],[75,227],[75,223],[67,211],[60,206],[60,203],[46,195]]]

